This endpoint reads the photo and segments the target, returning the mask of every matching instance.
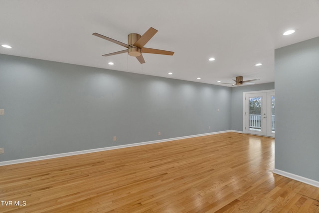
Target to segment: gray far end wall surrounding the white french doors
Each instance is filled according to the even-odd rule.
[[[231,129],[243,131],[244,92],[275,89],[275,83],[232,87],[231,89]]]

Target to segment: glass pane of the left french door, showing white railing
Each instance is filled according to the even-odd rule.
[[[261,97],[249,98],[249,130],[261,131]]]

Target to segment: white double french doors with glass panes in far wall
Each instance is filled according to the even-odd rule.
[[[244,92],[244,132],[275,137],[275,90]]]

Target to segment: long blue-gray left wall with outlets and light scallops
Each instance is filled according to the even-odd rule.
[[[0,161],[230,130],[230,103],[228,87],[0,54]]]

